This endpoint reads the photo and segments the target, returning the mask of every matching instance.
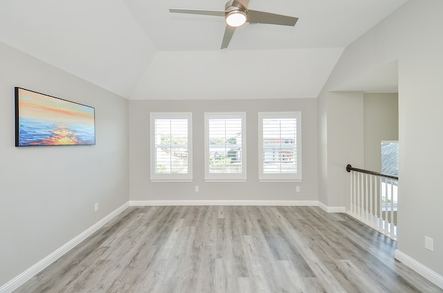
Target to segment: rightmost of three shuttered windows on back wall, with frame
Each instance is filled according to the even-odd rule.
[[[301,112],[260,112],[259,180],[301,181]]]

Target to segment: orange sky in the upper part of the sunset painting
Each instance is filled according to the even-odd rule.
[[[19,97],[19,111],[22,117],[86,125],[94,123],[93,113],[82,111],[80,104],[55,99],[22,88],[19,89]]]

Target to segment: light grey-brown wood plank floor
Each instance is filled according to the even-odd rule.
[[[443,292],[318,207],[129,207],[16,292]]]

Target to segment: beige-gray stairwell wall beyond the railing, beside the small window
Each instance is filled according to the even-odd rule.
[[[381,172],[383,140],[399,140],[399,102],[397,93],[363,95],[364,169]],[[357,166],[356,166],[357,167]]]

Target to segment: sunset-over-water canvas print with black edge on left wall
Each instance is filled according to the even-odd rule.
[[[96,144],[95,109],[15,88],[15,146]]]

